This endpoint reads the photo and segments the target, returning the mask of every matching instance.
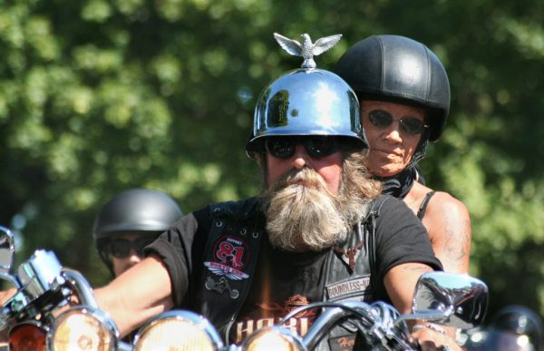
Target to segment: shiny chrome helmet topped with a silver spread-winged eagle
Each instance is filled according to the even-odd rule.
[[[333,37],[319,39],[316,45]],[[337,42],[339,35],[335,37]],[[303,34],[303,38],[306,39],[302,52],[309,36]],[[282,47],[285,48],[284,45]],[[354,91],[335,73],[316,68],[312,55],[297,55],[305,58],[303,67],[284,73],[267,85],[258,97],[253,132],[246,145],[248,155],[264,151],[263,140],[268,136],[331,135],[343,137],[356,147],[364,148],[366,141]],[[312,64],[306,64],[309,61]]]

